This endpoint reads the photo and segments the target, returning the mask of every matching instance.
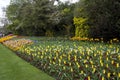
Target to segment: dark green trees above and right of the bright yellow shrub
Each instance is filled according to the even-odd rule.
[[[74,13],[75,17],[88,19],[89,37],[105,40],[120,37],[119,14],[119,0],[80,0]]]

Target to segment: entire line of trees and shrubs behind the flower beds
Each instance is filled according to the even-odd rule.
[[[6,13],[19,35],[120,38],[119,0],[11,0]]]

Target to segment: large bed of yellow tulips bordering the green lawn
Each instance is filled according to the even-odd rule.
[[[56,80],[120,80],[119,44],[42,38],[17,54]]]

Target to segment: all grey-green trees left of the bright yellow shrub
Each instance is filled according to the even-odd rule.
[[[74,35],[74,4],[55,0],[11,0],[6,12],[8,29],[19,35]],[[16,20],[19,21],[16,23]]]

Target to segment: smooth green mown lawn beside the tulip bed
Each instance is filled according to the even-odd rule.
[[[0,44],[0,80],[54,80]]]

